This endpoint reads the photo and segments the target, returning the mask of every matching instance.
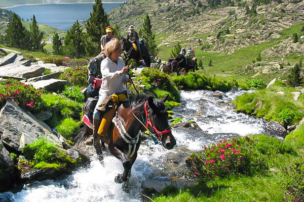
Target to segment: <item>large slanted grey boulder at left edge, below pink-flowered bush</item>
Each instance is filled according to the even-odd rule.
[[[16,104],[8,101],[0,111],[1,139],[11,149],[21,151],[25,144],[33,143],[40,138],[54,142],[62,147],[63,138],[44,122],[37,120],[35,116],[20,109]]]

